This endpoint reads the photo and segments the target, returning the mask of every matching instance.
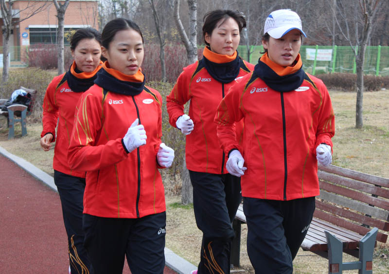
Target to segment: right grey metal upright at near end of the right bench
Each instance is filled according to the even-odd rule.
[[[359,274],[373,273],[373,252],[377,232],[378,228],[374,227],[359,241],[359,261],[362,262]]]

